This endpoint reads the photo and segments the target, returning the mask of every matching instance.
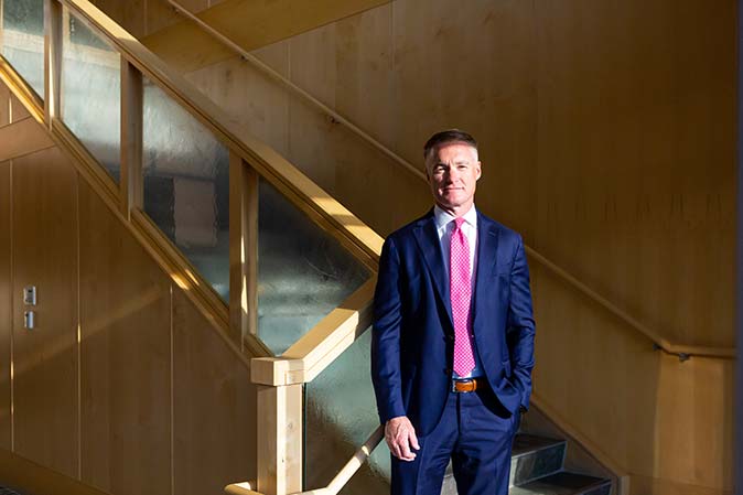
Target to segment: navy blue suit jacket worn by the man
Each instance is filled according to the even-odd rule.
[[[521,237],[477,213],[473,333],[487,381],[516,413],[531,392],[535,324]],[[433,211],[387,237],[374,298],[372,379],[379,419],[407,416],[419,435],[451,388],[454,326]]]

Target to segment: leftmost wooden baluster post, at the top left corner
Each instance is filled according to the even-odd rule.
[[[44,1],[44,118],[49,128],[60,117],[62,72],[62,4]]]

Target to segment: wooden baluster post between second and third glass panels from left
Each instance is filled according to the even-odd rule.
[[[143,207],[142,73],[121,57],[121,214]]]

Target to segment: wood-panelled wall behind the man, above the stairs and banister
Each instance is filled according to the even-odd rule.
[[[725,346],[734,20],[734,1],[398,0],[257,55],[413,164],[433,131],[471,130],[485,212],[670,340]],[[189,77],[380,232],[399,222],[379,202],[402,198],[407,218],[428,205],[423,184],[247,64]]]

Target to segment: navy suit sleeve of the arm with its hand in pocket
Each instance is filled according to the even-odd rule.
[[[518,237],[510,277],[510,301],[506,338],[513,368],[512,383],[520,391],[520,406],[529,407],[531,370],[534,369],[535,322],[529,287],[529,267],[526,262],[524,241]]]

